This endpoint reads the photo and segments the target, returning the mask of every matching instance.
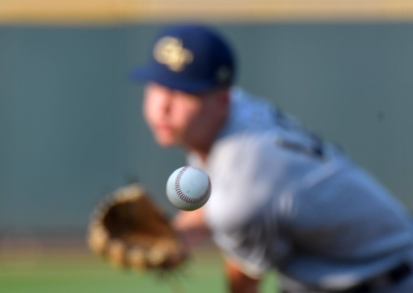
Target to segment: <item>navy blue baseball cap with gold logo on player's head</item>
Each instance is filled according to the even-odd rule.
[[[235,60],[228,43],[212,28],[193,24],[162,31],[149,63],[132,72],[133,80],[193,94],[230,86],[234,76]]]

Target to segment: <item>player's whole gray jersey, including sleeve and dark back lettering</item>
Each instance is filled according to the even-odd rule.
[[[240,89],[207,162],[188,154],[188,163],[211,177],[214,241],[247,274],[277,268],[297,284],[340,289],[412,259],[410,217],[384,187]]]

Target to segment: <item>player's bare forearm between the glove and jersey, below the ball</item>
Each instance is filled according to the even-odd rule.
[[[204,208],[193,211],[181,210],[172,221],[185,246],[189,248],[204,242],[211,236],[207,222],[205,221]]]

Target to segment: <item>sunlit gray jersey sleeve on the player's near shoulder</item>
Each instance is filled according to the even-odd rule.
[[[212,193],[206,217],[214,241],[250,276],[262,274],[289,253],[278,233],[276,206],[291,168],[277,154],[273,135],[230,137],[212,152]]]

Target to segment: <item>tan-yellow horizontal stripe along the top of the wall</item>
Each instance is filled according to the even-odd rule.
[[[413,19],[413,0],[0,0],[2,23]]]

